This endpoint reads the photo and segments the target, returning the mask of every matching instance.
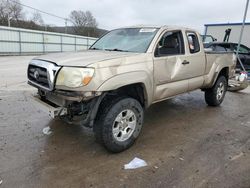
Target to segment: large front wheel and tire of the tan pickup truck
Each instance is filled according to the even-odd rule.
[[[143,124],[141,104],[133,98],[122,97],[106,100],[100,108],[93,129],[97,141],[114,153],[132,146]]]

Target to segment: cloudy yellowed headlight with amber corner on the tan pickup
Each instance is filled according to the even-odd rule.
[[[94,72],[93,68],[63,67],[57,76],[56,85],[67,87],[86,86],[91,81]]]

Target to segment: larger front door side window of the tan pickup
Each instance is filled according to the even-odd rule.
[[[166,32],[156,47],[155,56],[161,57],[179,54],[184,54],[184,42],[181,31]]]

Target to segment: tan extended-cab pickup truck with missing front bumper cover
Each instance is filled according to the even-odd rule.
[[[40,109],[92,128],[107,150],[121,152],[154,103],[201,89],[209,106],[220,105],[235,65],[231,52],[204,51],[195,30],[135,26],[108,32],[86,51],[34,58],[27,76]]]

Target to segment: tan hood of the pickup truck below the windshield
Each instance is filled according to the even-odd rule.
[[[49,61],[59,66],[88,66],[93,63],[111,59],[124,58],[139,55],[132,52],[116,52],[101,50],[86,50],[80,52],[54,53],[36,57],[37,60]]]

